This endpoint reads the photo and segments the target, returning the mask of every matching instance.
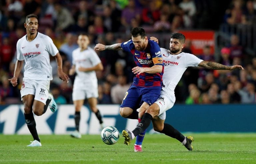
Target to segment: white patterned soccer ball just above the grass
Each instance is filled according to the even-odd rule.
[[[101,131],[101,139],[108,145],[113,145],[119,140],[119,131],[114,126],[107,126]]]

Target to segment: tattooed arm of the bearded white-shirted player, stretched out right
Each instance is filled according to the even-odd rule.
[[[227,65],[223,65],[223,64],[211,62],[211,61],[202,61],[198,64],[198,66],[204,67],[207,69],[233,70],[233,69],[239,68],[244,70],[244,68],[241,65],[227,66]]]

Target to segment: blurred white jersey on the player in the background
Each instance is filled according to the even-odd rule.
[[[76,79],[81,79],[83,82],[90,82],[97,80],[95,71],[79,71],[79,67],[90,68],[101,63],[101,60],[97,53],[90,47],[81,51],[81,48],[77,48],[72,53],[72,63],[76,67]],[[97,82],[97,81],[96,81]]]

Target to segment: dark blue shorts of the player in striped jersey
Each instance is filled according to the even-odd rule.
[[[133,110],[138,109],[143,102],[152,105],[160,96],[162,87],[137,87],[131,85],[126,92],[121,108],[130,107]]]

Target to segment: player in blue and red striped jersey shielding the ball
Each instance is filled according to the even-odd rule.
[[[152,105],[160,95],[162,89],[163,59],[159,45],[149,40],[145,30],[135,27],[131,30],[132,39],[112,45],[96,44],[95,50],[125,50],[132,53],[136,67],[132,72],[136,74],[133,84],[126,92],[120,106],[120,115],[128,119],[138,119],[139,122],[146,109]],[[139,113],[137,112],[137,107]],[[139,118],[138,118],[139,116]],[[134,149],[142,151],[141,144],[145,132],[137,136]]]

